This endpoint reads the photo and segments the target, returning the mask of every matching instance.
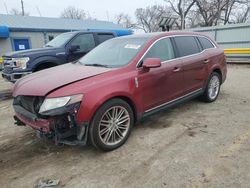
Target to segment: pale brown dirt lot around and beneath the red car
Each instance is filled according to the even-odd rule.
[[[218,100],[151,116],[128,142],[103,153],[59,147],[12,120],[11,84],[0,80],[0,185],[35,187],[250,187],[250,65],[230,65]]]

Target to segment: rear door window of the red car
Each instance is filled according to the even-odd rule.
[[[174,40],[179,52],[179,57],[192,55],[200,52],[200,48],[196,42],[195,37],[178,36],[174,37]]]

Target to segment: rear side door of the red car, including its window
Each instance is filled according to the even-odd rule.
[[[208,74],[208,54],[195,36],[175,36],[174,41],[183,63],[184,95],[203,88]]]

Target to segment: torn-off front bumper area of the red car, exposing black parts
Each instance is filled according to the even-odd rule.
[[[15,124],[36,130],[39,138],[54,140],[56,144],[86,145],[89,122],[77,122],[76,113],[38,117],[19,105],[13,105]]]

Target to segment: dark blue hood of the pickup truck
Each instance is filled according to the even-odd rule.
[[[45,47],[45,48],[35,48],[35,49],[30,49],[30,50],[20,50],[20,51],[15,51],[15,52],[9,52],[4,54],[3,56],[6,57],[12,57],[12,58],[17,58],[17,57],[30,57],[30,56],[39,56],[40,54],[51,54],[55,53],[55,51],[59,51],[59,48],[52,48],[52,47]]]

